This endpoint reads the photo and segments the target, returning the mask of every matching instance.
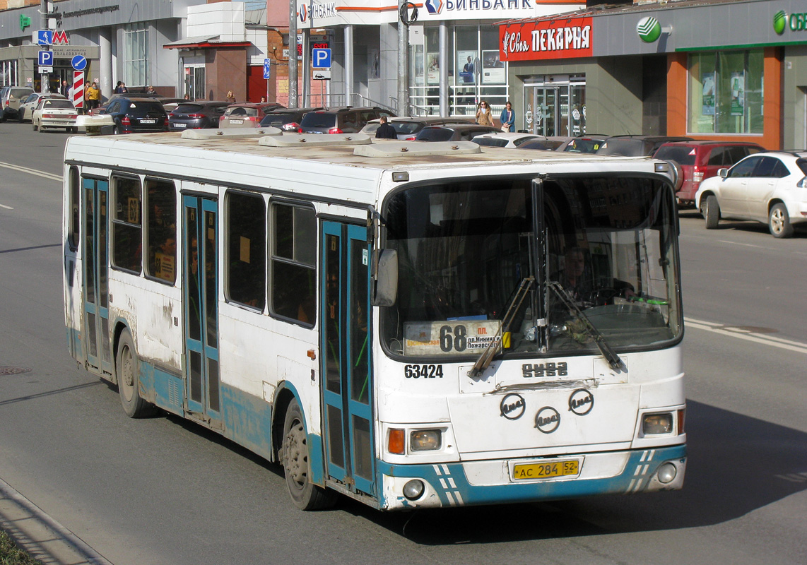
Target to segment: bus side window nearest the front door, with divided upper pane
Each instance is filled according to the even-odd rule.
[[[271,206],[271,312],[314,325],[316,212],[307,206]]]

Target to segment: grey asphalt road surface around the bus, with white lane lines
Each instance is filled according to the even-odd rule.
[[[0,374],[0,479],[115,565],[807,563],[807,232],[680,214],[684,490],[302,513],[279,467],[179,418],[126,418],[69,357],[52,177],[66,137],[0,124],[0,367],[30,369]]]

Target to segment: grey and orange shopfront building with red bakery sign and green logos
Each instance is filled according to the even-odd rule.
[[[807,147],[805,11],[682,0],[503,23],[517,127]]]

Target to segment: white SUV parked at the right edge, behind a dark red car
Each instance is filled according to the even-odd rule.
[[[807,152],[760,152],[721,168],[700,183],[695,205],[713,230],[721,219],[767,223],[771,235],[788,238],[807,222]]]

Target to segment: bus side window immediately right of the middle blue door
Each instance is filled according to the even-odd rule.
[[[263,197],[227,195],[227,294],[263,310],[266,304],[266,204]]]

